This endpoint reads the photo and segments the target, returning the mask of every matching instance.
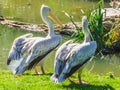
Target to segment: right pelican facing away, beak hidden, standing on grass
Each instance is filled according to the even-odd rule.
[[[91,41],[92,35],[88,29],[86,16],[82,18],[82,31],[84,33],[83,43],[74,43],[74,40],[69,40],[57,50],[54,74],[50,78],[52,82],[61,83],[78,70],[78,80],[82,83],[80,75],[83,65],[94,55],[97,48],[96,41]]]

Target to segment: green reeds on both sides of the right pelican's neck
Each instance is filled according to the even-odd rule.
[[[73,17],[65,13],[71,20],[71,22],[74,24],[75,29],[77,30],[77,33],[74,33],[72,35],[72,38],[75,39],[75,41],[79,42],[80,40],[83,40],[83,33],[80,27],[78,27]],[[101,52],[102,49],[105,48],[105,32],[103,28],[103,13],[102,13],[102,0],[99,1],[96,5],[96,9],[92,10],[90,13],[84,13],[88,17],[89,25],[88,28],[90,29],[93,39],[97,42],[97,52]]]

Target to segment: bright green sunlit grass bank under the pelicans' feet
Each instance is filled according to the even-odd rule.
[[[50,81],[52,72],[47,70],[46,75],[35,75],[26,72],[22,76],[14,76],[8,70],[0,70],[0,90],[120,90],[120,78],[108,74],[97,75],[83,71],[82,80],[89,85],[81,85],[77,82],[77,74],[71,77],[72,81],[66,80],[61,84]]]

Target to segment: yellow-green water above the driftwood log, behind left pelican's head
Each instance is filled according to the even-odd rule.
[[[63,11],[74,16],[75,21],[80,21],[83,15],[81,9],[88,12],[96,5],[95,2],[84,0],[0,0],[0,15],[7,19],[40,24],[43,23],[39,14],[42,4],[50,6],[63,23],[70,22]]]

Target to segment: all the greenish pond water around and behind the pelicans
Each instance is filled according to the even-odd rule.
[[[39,15],[42,3],[50,6],[54,14],[64,23],[70,22],[70,20],[64,15],[63,11],[73,15],[75,21],[79,21],[82,15],[80,9],[88,11],[96,4],[83,2],[82,0],[0,0],[0,15],[7,19],[40,24],[43,23]],[[7,69],[7,57],[13,40],[26,33],[29,32],[9,29],[0,25],[0,69]],[[31,33],[35,36],[45,36],[40,33]],[[56,50],[45,58],[47,60],[45,67],[48,69],[49,67],[53,68],[55,52]],[[100,57],[94,58],[86,65],[86,69],[99,74],[113,72],[115,76],[120,77],[120,55],[106,56],[103,60],[100,60]]]

